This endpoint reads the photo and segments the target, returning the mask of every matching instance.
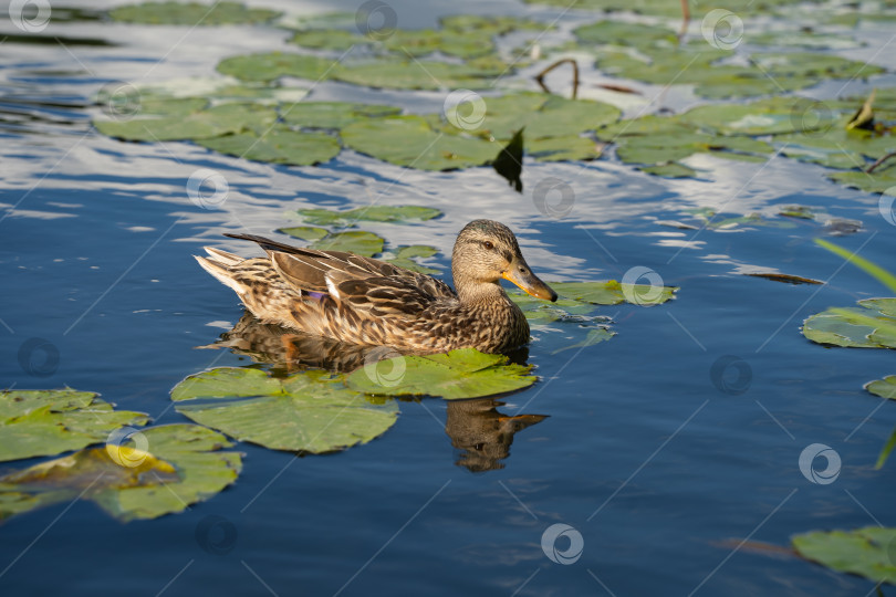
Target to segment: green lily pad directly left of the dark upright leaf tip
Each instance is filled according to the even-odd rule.
[[[397,166],[420,170],[450,170],[491,161],[498,144],[437,133],[420,116],[390,116],[361,121],[342,129],[342,139],[355,151]]]

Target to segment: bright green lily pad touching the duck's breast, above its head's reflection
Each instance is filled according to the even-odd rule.
[[[508,363],[503,355],[461,348],[439,355],[406,355],[351,373],[350,388],[386,396],[437,396],[446,400],[480,398],[527,388],[532,367]],[[381,375],[381,367],[389,371]]]

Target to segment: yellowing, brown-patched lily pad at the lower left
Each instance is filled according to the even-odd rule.
[[[227,438],[205,427],[166,425],[140,436],[147,450],[129,449],[127,465],[107,448],[90,448],[0,476],[0,519],[74,499],[123,522],[156,519],[211,498],[242,468],[238,452],[220,451]]]

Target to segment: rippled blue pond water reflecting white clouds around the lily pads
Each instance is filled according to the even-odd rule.
[[[295,13],[357,8],[254,4]],[[407,28],[431,27],[448,13],[550,21],[561,12],[510,1],[392,6]],[[786,547],[792,535],[811,530],[894,524],[894,463],[876,471],[874,462],[896,410],[862,389],[896,373],[893,355],[825,348],[800,333],[811,314],[888,291],[819,248],[813,239],[827,234],[819,222],[722,230],[660,222],[687,219],[692,208],[774,219],[783,205],[815,206],[861,220],[858,232],[834,241],[892,268],[896,228],[881,214],[877,196],[783,158],[705,157],[692,165],[706,176],[681,180],[612,157],[527,161],[520,195],[491,168],[424,172],[350,150],[319,167],[282,167],[189,143],[122,143],[90,125],[98,113],[92,97],[103,85],[208,76],[220,59],[270,49],[288,33],[51,27],[45,34],[116,45],[2,45],[4,387],[97,391],[155,423],[186,421],[170,408],[173,386],[210,367],[251,363],[197,348],[229,329],[242,308],[191,255],[204,244],[249,254],[253,248],[222,232],[271,234],[293,221],[285,212],[305,207],[438,208],[444,216],[425,223],[364,229],[394,245],[438,248],[433,263],[446,273],[458,230],[490,218],[517,232],[544,280],[618,280],[643,266],[680,290],[650,308],[601,307],[617,335],[594,346],[562,349],[582,339],[569,324],[536,328],[528,362],[540,380],[499,400],[402,401],[386,434],[335,454],[295,457],[239,443],[246,458],[237,482],[181,514],[122,524],[76,500],[12,517],[0,526],[3,595],[874,593],[869,580],[757,545]],[[883,40],[877,46],[886,41],[874,39]],[[348,85],[321,83],[312,97],[354,94]],[[427,112],[444,96],[365,97]],[[220,172],[229,186],[226,200],[209,209],[185,188],[199,168]],[[532,200],[531,189],[550,177],[574,191],[563,218],[544,216]],[[758,270],[826,284],[743,275]],[[52,345],[58,364],[21,366],[30,338]],[[726,356],[736,358],[720,360]],[[729,362],[722,380],[713,379],[717,364]],[[523,415],[544,418],[524,419],[529,426],[503,443],[487,431]],[[800,454],[812,443],[840,454],[834,482],[812,483],[801,473]],[[556,538],[561,552],[581,534],[581,557],[572,564],[552,562],[542,549],[545,530],[556,523],[573,528]]]

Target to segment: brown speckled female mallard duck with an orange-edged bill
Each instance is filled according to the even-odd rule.
[[[196,259],[256,317],[350,344],[408,353],[465,347],[499,353],[529,342],[525,316],[500,277],[556,301],[529,269],[513,232],[492,220],[475,220],[457,237],[451,254],[457,293],[433,276],[353,253],[226,235],[254,241],[268,256],[242,259],[206,247],[211,256]]]

